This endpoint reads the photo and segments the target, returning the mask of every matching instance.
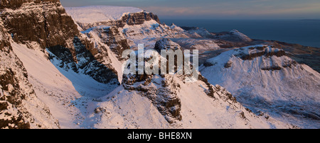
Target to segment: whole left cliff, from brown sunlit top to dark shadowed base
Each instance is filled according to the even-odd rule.
[[[85,74],[102,83],[109,82],[114,76],[117,77],[117,72],[109,66],[110,63],[105,62],[105,59],[98,55],[99,51],[94,47],[94,43],[81,35],[77,25],[65,12],[60,1],[14,0],[10,2],[1,1],[1,3],[3,4],[1,4],[0,10],[1,19],[15,42],[26,44],[31,49],[33,47],[30,43],[36,42],[42,50],[48,48],[56,56],[61,56],[59,59],[65,60],[63,63],[84,62],[81,59],[87,61],[85,64],[95,63],[79,68],[87,69],[84,71]],[[63,51],[65,52],[61,54],[60,52]],[[90,56],[82,58],[83,55]],[[74,64],[70,68],[75,70],[77,67]],[[101,69],[98,72],[99,74],[104,73],[105,76],[113,76],[97,78],[98,73],[90,70],[94,68]]]

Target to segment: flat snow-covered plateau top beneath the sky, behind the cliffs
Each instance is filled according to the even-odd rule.
[[[142,9],[125,6],[65,7],[65,11],[80,23],[117,21],[125,14],[142,12]]]

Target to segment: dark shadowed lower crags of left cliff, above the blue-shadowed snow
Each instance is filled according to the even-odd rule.
[[[92,79],[104,84],[119,84],[114,69],[107,68],[104,64],[98,62],[78,37],[74,38],[73,43],[77,62],[73,61],[70,50],[65,47],[48,48],[50,59],[58,59],[58,66],[67,71],[72,69],[77,73],[89,75]]]

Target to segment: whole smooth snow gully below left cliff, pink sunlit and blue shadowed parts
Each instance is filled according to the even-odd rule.
[[[14,52],[28,71],[28,79],[38,98],[46,103],[61,128],[80,128],[88,101],[110,93],[116,85],[102,84],[85,74],[60,68],[59,59],[48,59],[35,43],[35,50],[11,42]],[[114,87],[115,86],[115,87]]]

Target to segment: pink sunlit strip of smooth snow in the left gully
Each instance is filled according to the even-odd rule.
[[[73,84],[60,74],[46,55],[38,50],[30,50],[25,45],[12,43],[14,52],[25,65],[30,80],[38,98],[41,99],[60,122],[60,127],[75,127],[73,114],[79,111],[75,108],[66,108],[69,102],[80,98]],[[65,106],[63,106],[65,104]]]

